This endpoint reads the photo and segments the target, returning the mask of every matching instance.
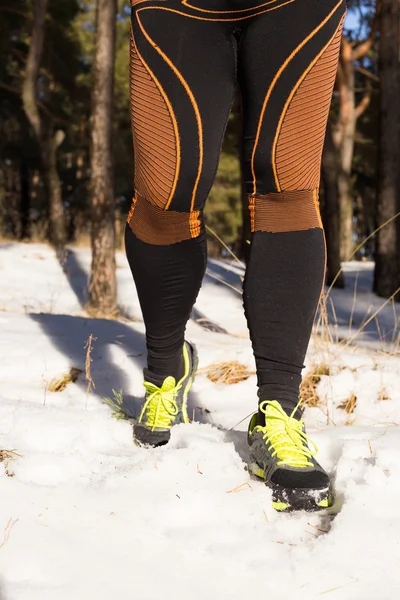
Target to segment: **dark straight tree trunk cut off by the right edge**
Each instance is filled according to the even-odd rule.
[[[378,226],[400,211],[400,8],[399,0],[382,0],[379,70],[380,140]],[[400,286],[400,219],[377,235],[375,291],[390,297]],[[397,295],[400,300],[400,294]]]

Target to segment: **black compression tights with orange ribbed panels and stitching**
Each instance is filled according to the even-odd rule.
[[[182,368],[206,265],[202,213],[238,82],[259,398],[297,404],[324,279],[319,172],[344,14],[342,0],[133,1],[126,250],[155,381]]]

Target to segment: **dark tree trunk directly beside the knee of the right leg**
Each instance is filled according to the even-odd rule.
[[[324,151],[322,153],[322,185],[324,203],[322,221],[324,223],[327,248],[326,279],[330,285],[340,271],[340,219],[339,219],[339,165],[337,151],[332,138],[332,129],[328,122]],[[344,287],[343,273],[340,272],[335,280],[335,287]]]

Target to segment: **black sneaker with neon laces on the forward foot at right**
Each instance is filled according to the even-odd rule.
[[[303,421],[288,416],[276,400],[262,402],[260,412],[265,424],[258,424],[258,413],[249,424],[249,470],[272,489],[272,506],[279,511],[331,506],[329,477],[314,458],[318,449],[306,435]]]

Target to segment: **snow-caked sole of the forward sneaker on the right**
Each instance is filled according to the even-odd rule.
[[[266,481],[264,471],[256,464],[249,464],[249,471],[272,490],[272,508],[278,512],[316,512],[333,505],[334,496],[330,486],[320,489],[284,488]]]

